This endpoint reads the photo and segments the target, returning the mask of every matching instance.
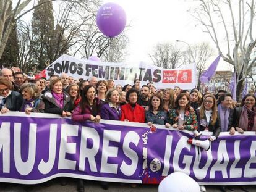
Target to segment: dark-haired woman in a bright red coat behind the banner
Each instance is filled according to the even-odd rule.
[[[139,91],[135,88],[131,88],[126,93],[127,104],[121,107],[121,119],[127,122],[145,122],[145,110],[142,106],[137,104]]]

